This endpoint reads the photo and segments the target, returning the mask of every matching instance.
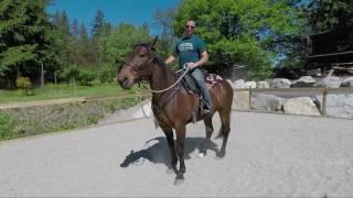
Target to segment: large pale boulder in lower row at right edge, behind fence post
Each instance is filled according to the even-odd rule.
[[[322,95],[317,96],[322,107]],[[327,116],[335,118],[353,118],[353,95],[328,95]]]

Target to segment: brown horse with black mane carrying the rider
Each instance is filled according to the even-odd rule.
[[[171,153],[171,167],[176,174],[174,184],[183,182],[185,173],[184,164],[184,140],[185,125],[192,120],[195,105],[199,105],[199,96],[189,94],[178,81],[176,73],[170,70],[159,55],[153,51],[157,38],[153,42],[138,44],[133,46],[131,54],[127,57],[125,65],[118,73],[117,78],[125,89],[131,88],[136,82],[147,80],[152,89],[152,110],[156,120],[163,130],[169,150]],[[175,86],[174,86],[175,85]],[[218,157],[225,156],[231,117],[231,106],[233,101],[233,90],[226,80],[221,80],[216,85],[207,85],[212,98],[212,113],[205,117],[199,114],[199,119],[204,120],[206,127],[206,140],[203,142],[200,152],[206,154],[211,135],[213,132],[212,116],[218,111],[222,127],[220,136],[223,136],[222,148],[216,152]],[[154,90],[154,91],[153,91]],[[176,135],[176,146],[174,146],[173,129]],[[178,157],[180,169],[176,169]]]

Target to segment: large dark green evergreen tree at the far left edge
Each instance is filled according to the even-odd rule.
[[[0,3],[0,76],[13,85],[17,76],[38,79],[42,63],[53,62],[52,28],[45,0]]]

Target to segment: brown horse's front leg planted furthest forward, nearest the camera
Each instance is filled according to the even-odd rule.
[[[185,146],[185,124],[179,124],[175,127],[176,134],[176,153],[179,156],[180,169],[176,172],[176,178],[174,184],[181,184],[184,179],[184,173],[186,170],[184,163],[184,146]]]

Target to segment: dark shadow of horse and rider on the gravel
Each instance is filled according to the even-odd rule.
[[[191,158],[190,154],[196,148],[200,150],[200,146],[204,140],[204,138],[185,138],[185,160]],[[217,144],[211,141],[207,150],[217,152]],[[167,139],[164,136],[158,136],[147,141],[140,151],[130,151],[125,161],[120,164],[120,167],[142,165],[145,160],[148,160],[154,164],[164,164],[167,167],[170,166],[171,156]]]

